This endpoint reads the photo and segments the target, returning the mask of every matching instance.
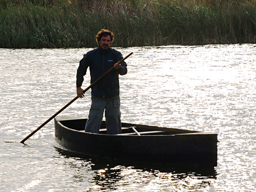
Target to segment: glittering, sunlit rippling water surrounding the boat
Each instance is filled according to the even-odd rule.
[[[122,122],[218,134],[218,166],[122,164],[61,150],[49,122],[76,96],[91,49],[0,49],[0,192],[252,192],[256,188],[256,45],[117,48]],[[86,75],[83,87],[89,86]],[[90,91],[60,116],[85,117]]]

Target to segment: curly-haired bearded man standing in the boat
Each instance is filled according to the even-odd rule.
[[[118,75],[127,73],[127,64],[118,62],[123,59],[122,54],[113,48],[110,48],[114,40],[114,34],[102,29],[96,35],[98,48],[87,52],[84,58],[80,60],[76,74],[76,92],[79,98],[83,98],[83,89],[86,70],[90,68],[91,84],[100,78],[105,72],[114,66],[114,70],[104,76],[99,82],[92,86],[92,104],[89,112],[89,118],[86,122],[85,131],[98,133],[105,110],[107,134],[118,134],[121,129],[121,112],[119,97],[119,78]]]

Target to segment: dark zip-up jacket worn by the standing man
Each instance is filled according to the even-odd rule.
[[[122,54],[108,48],[102,50],[100,47],[87,52],[84,58],[80,60],[79,67],[76,74],[76,87],[81,87],[84,81],[86,70],[90,67],[91,84],[100,78],[105,72],[114,66],[114,64],[122,60]],[[100,96],[102,98],[119,96],[119,78],[118,75],[125,75],[127,73],[127,64],[122,62],[121,67],[112,70],[104,76],[98,83],[92,86],[92,96]]]

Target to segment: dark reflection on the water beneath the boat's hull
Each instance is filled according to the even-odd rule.
[[[82,153],[77,153],[71,150],[62,148],[61,146],[55,147],[58,154],[64,156],[64,158],[75,158],[79,161],[84,161],[87,166],[90,166],[91,170],[100,174],[100,170],[105,170],[104,174],[110,174],[113,176],[120,176],[120,170],[127,168],[133,170],[143,170],[146,172],[162,172],[172,173],[175,179],[182,179],[188,175],[198,176],[204,178],[216,179],[216,170],[213,166],[190,166],[190,165],[178,165],[178,164],[153,164],[146,162],[131,162],[122,160],[110,160],[107,158],[99,158]],[[88,171],[88,170],[87,170]]]

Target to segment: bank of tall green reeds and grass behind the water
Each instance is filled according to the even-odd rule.
[[[0,48],[256,43],[256,0],[0,0]]]

